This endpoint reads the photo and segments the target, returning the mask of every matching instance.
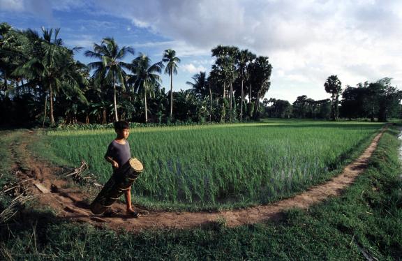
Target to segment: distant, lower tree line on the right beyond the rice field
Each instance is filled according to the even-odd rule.
[[[331,98],[313,100],[306,95],[299,96],[294,103],[288,100],[265,98],[263,117],[297,119],[370,119],[387,121],[389,118],[402,118],[402,91],[392,86],[391,78],[385,77],[376,82],[349,85],[342,91],[341,81],[336,75],[327,78],[325,91]],[[341,100],[339,98],[342,97]]]

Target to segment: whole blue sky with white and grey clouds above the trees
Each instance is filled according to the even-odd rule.
[[[0,0],[0,22],[15,29],[61,28],[68,47],[85,50],[113,37],[135,56],[161,61],[173,49],[181,59],[173,89],[214,63],[211,49],[235,45],[269,57],[265,98],[329,98],[324,83],[338,75],[343,88],[391,77],[402,89],[401,0]],[[163,87],[170,89],[168,75]]]

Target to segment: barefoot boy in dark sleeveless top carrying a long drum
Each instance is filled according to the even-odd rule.
[[[105,160],[112,164],[115,172],[131,158],[130,144],[128,144],[127,140],[130,134],[130,126],[127,121],[116,121],[114,131],[116,131],[117,137],[110,142],[105,154]],[[126,197],[127,214],[138,218],[140,214],[135,212],[131,206],[131,187],[124,192],[124,197]]]

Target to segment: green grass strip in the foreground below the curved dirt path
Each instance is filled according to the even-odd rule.
[[[227,228],[225,221],[191,230],[137,234],[69,223],[27,210],[0,232],[4,260],[400,260],[402,177],[397,139],[382,136],[368,170],[343,195],[282,221]],[[0,161],[3,159],[0,158]]]

